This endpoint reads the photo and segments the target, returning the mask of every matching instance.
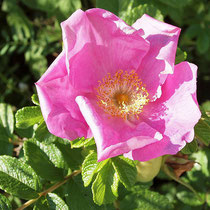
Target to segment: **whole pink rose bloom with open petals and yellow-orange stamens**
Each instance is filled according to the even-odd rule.
[[[51,133],[94,137],[98,160],[175,154],[200,118],[197,67],[174,65],[180,29],[143,15],[77,10],[61,24],[64,50],[36,83]]]

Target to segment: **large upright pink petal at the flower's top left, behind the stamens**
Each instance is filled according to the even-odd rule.
[[[149,49],[141,32],[102,9],[78,10],[61,26],[70,82],[83,92],[107,73],[137,69]]]

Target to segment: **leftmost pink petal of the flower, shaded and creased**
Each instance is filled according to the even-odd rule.
[[[36,88],[42,114],[52,134],[70,140],[87,136],[89,127],[75,103],[78,91],[69,83],[64,52],[36,83]]]

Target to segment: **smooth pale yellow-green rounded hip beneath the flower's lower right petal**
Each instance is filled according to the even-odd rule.
[[[162,164],[162,157],[158,157],[146,162],[138,162],[137,168],[137,181],[149,182],[157,176]]]

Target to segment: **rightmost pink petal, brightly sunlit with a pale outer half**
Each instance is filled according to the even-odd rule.
[[[182,62],[174,74],[167,77],[163,94],[149,103],[142,112],[143,120],[163,134],[163,140],[127,154],[132,159],[146,161],[160,155],[175,154],[194,138],[193,128],[201,117],[196,99],[194,64]],[[154,151],[154,152],[152,152]]]

